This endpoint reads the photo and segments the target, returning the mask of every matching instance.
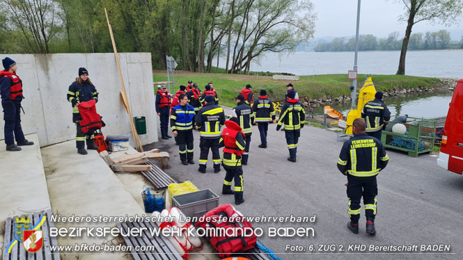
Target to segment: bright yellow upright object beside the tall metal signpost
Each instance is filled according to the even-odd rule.
[[[373,85],[371,76],[369,76],[359,91],[356,108],[351,108],[347,113],[345,133],[352,134],[352,123],[356,118],[360,118],[362,116],[363,106],[365,106],[368,101],[375,99],[375,94],[375,85]]]

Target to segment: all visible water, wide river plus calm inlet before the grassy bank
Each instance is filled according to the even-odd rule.
[[[400,51],[360,51],[359,74],[395,74]],[[298,51],[292,54],[268,53],[251,63],[251,71],[287,72],[296,75],[346,74],[354,65],[354,52]],[[225,67],[221,58],[220,67]],[[444,51],[407,51],[405,74],[442,78],[463,78],[463,49]],[[384,101],[392,115],[408,114],[412,117],[439,117],[447,115],[453,92],[422,92],[401,97],[388,97]],[[333,108],[344,114],[349,104],[335,104]],[[316,115],[323,108],[314,108]]]

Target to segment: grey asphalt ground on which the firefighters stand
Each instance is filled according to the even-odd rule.
[[[226,113],[230,113],[227,111]],[[463,257],[463,177],[446,172],[436,165],[429,154],[418,158],[388,150],[389,165],[378,179],[379,195],[377,235],[368,236],[363,224],[360,234],[346,227],[347,179],[338,172],[341,142],[336,133],[316,127],[302,129],[297,163],[286,161],[284,132],[269,126],[269,147],[258,148],[260,138],[253,127],[249,165],[244,166],[244,198],[237,206],[246,216],[314,216],[313,223],[254,223],[264,229],[260,239],[282,259],[462,259]],[[196,162],[199,158],[199,133],[194,131]],[[197,171],[198,164],[182,165],[178,147],[171,140],[150,145],[171,153],[171,169],[166,170],[178,181],[192,181],[198,188],[210,188],[221,196],[220,203],[234,204],[233,196],[221,195],[225,171],[214,174],[208,163],[207,173]],[[210,159],[212,155],[210,154]],[[212,160],[211,160],[212,161]],[[313,227],[314,237],[269,238],[268,227]],[[285,245],[302,245],[305,252],[285,251]],[[313,252],[308,252],[310,246]],[[329,254],[320,253],[319,245],[334,245]],[[340,245],[345,251],[340,251]],[[353,252],[349,245],[366,245],[367,250]],[[420,254],[370,254],[370,245],[450,245],[450,254],[418,252]],[[350,251],[347,254],[347,251]],[[308,256],[308,254],[311,254]],[[316,254],[314,254],[316,253]],[[393,253],[393,252],[390,252]],[[361,255],[359,255],[361,254]]]

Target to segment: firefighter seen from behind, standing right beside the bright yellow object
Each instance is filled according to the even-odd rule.
[[[365,118],[366,133],[381,141],[381,132],[391,119],[391,112],[383,102],[383,93],[376,92],[375,99],[363,106],[362,118]]]

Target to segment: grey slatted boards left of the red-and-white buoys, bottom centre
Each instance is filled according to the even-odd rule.
[[[123,222],[117,225],[118,228],[123,228],[126,232],[128,229],[146,227],[143,231],[143,236],[123,236],[125,244],[130,245],[132,250],[130,253],[135,260],[182,260],[182,257],[173,248],[173,245],[164,236],[151,236],[148,229],[157,229],[156,224],[153,222]],[[139,246],[154,246],[155,250],[152,252],[136,252],[134,248]]]

